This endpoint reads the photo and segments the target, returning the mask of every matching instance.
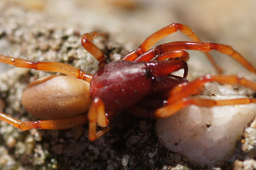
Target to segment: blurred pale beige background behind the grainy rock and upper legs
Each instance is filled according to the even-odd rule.
[[[146,0],[98,0],[98,1],[44,1],[11,0],[27,10],[43,13],[49,23],[73,28],[80,32],[108,32],[110,37],[130,51],[136,48],[148,35],[156,30],[177,22],[190,26],[204,42],[232,45],[246,59],[256,63],[255,6],[253,0],[245,1],[146,1]],[[189,40],[180,33],[169,36],[163,42]],[[163,43],[161,42],[161,43]],[[193,53],[193,52],[192,52]],[[200,65],[198,60],[208,64],[201,53],[191,57],[190,65],[199,72],[204,69],[214,70],[208,65]],[[214,58],[222,67],[233,60],[213,52]],[[199,56],[199,58],[197,57]],[[232,65],[230,64],[230,65]],[[235,64],[236,65],[236,64]],[[205,68],[203,68],[205,67]],[[237,69],[227,67],[226,73],[239,73]],[[208,71],[207,71],[208,72]]]

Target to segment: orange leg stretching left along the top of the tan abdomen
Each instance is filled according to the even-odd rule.
[[[0,55],[0,63],[10,64],[20,68],[32,68],[38,71],[63,73],[68,76],[80,78],[88,82],[90,82],[90,80],[92,79],[92,75],[85,74],[84,71],[81,71],[80,69],[65,63],[39,62],[39,61],[32,62],[28,60],[19,59],[19,58],[15,59],[14,57],[3,56],[3,55]]]

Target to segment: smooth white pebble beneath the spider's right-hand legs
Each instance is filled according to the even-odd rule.
[[[209,91],[215,96],[207,96]],[[246,97],[217,84],[208,84],[204,93],[197,97],[215,100]],[[158,119],[156,133],[168,150],[211,167],[217,161],[230,159],[243,129],[255,115],[256,104],[253,103],[216,107],[192,105],[171,117]]]

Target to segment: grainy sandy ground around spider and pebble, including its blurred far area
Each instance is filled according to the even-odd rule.
[[[7,2],[7,1],[6,1]],[[136,48],[152,32],[170,23],[191,26],[203,41],[230,44],[255,66],[255,1],[5,1],[0,2],[0,51],[3,55],[30,60],[61,61],[86,72],[97,63],[80,47],[83,32],[109,34],[96,43],[111,60]],[[180,33],[163,42],[188,40]],[[161,43],[163,43],[161,42]],[[235,61],[212,52],[225,74],[253,77]],[[214,73],[199,52],[191,52],[190,74]],[[49,73],[0,65],[0,106],[22,120],[34,120],[20,105],[27,84]],[[3,103],[3,104],[2,104]],[[0,108],[1,109],[1,108]],[[128,116],[119,118],[132,119]],[[0,167],[2,169],[196,169],[179,154],[159,144],[154,120],[135,119],[96,142],[86,138],[85,126],[62,131],[20,132],[1,123]],[[129,121],[128,121],[129,122]],[[255,134],[252,124],[244,136]],[[239,140],[239,139],[238,139]],[[222,169],[250,169],[255,165],[254,138],[238,144],[233,160]],[[126,165],[127,157],[129,157]],[[243,161],[245,160],[245,161]],[[247,162],[246,162],[247,161]]]

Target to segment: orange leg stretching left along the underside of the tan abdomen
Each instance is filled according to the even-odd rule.
[[[32,128],[61,130],[72,128],[87,123],[86,114],[81,114],[73,118],[59,119],[59,120],[43,120],[43,121],[19,121],[10,115],[0,112],[0,121],[6,122],[22,131],[30,130]]]

